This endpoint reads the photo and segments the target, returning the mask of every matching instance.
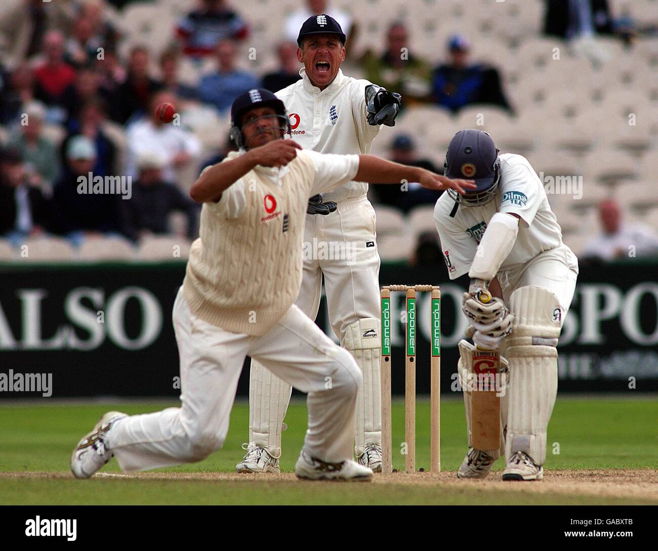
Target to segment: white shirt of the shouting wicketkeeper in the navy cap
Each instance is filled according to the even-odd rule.
[[[339,69],[332,83],[320,91],[311,84],[305,68],[299,74],[301,80],[275,94],[286,106],[292,139],[320,153],[368,155],[382,128],[370,126],[367,120],[365,88],[372,83],[345,76]],[[323,197],[324,201],[342,201],[366,193],[367,183],[350,181]]]

